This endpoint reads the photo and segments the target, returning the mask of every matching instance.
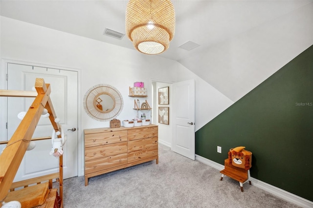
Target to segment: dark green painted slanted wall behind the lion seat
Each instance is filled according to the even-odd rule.
[[[251,177],[313,201],[313,46],[196,132],[196,154],[222,165],[236,146]]]

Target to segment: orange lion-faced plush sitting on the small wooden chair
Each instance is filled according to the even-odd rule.
[[[250,169],[252,162],[252,152],[247,151],[246,146],[237,146],[229,149],[228,161],[229,165],[240,168]]]

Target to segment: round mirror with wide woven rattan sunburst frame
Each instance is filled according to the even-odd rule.
[[[97,84],[89,88],[84,96],[86,113],[97,121],[111,121],[123,109],[121,93],[110,84]]]

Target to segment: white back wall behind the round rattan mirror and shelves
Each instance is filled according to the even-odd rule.
[[[124,108],[117,119],[133,119],[134,98],[129,86],[144,82],[151,103],[151,78],[175,80],[178,63],[157,56],[145,56],[135,50],[99,42],[42,26],[1,17],[1,59],[61,66],[78,70],[80,74],[79,174],[83,174],[83,129],[108,127],[109,122],[91,119],[82,108],[86,91],[95,84],[116,87],[124,99]],[[1,85],[5,82],[1,67]],[[164,76],[166,75],[166,76]],[[2,124],[1,124],[2,125]]]

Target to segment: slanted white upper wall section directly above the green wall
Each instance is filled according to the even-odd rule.
[[[179,62],[236,102],[312,44],[313,2]]]

